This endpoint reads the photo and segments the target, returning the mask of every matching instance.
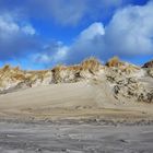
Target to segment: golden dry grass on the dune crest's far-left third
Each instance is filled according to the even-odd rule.
[[[35,84],[37,81],[42,83],[46,78],[49,78],[49,70],[43,71],[23,71],[19,67],[11,68],[9,64],[0,69],[0,86],[4,87],[9,84],[23,83],[25,85]],[[8,85],[7,85],[8,84]]]

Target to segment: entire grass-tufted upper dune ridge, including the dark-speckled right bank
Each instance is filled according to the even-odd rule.
[[[0,70],[1,94],[34,86],[96,81],[106,84],[118,101],[153,102],[152,71],[122,62],[117,57],[110,59],[106,67],[95,58],[90,58],[75,66],[57,66],[51,70],[23,71],[20,68],[4,66]],[[148,80],[150,81],[143,81]],[[102,90],[103,92],[103,90]]]

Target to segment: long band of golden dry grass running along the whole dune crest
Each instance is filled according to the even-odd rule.
[[[119,61],[117,57],[110,59],[106,66],[109,67],[119,67],[123,71],[132,71],[132,67],[127,67],[123,62]],[[123,66],[123,67],[121,67]],[[19,67],[11,68],[9,64],[0,69],[0,85],[3,84],[50,84],[50,83],[70,83],[78,82],[81,80],[91,80],[98,78],[103,73],[102,63],[94,57],[85,59],[80,64],[74,66],[56,66],[51,70],[42,70],[42,71],[23,71]],[[101,71],[102,70],[102,71]]]

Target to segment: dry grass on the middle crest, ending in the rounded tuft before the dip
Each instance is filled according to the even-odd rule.
[[[82,78],[85,79],[83,73],[95,74],[102,67],[101,62],[95,58],[90,58],[81,62],[80,64],[74,66],[57,66],[55,67],[52,72],[52,82],[76,82]]]

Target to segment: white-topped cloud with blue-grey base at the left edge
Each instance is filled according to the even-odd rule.
[[[11,14],[0,14],[0,60],[19,58],[38,47],[36,30],[31,23],[21,23]]]

